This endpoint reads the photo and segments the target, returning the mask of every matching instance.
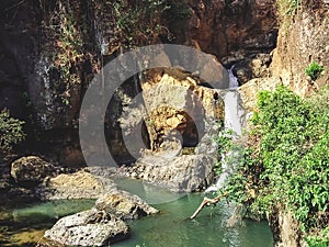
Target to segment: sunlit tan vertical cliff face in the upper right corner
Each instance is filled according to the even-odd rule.
[[[282,11],[286,11],[284,8]],[[317,90],[328,82],[325,75],[311,81],[305,75],[306,67],[316,61],[328,67],[328,3],[303,1],[302,5],[281,19],[277,48],[274,50],[272,71],[300,96]]]

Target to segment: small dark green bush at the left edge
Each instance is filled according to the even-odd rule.
[[[13,145],[25,138],[23,121],[9,115],[8,111],[0,113],[0,151],[10,151]]]

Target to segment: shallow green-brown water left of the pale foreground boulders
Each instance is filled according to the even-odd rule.
[[[57,200],[0,206],[0,246],[33,247],[58,218],[89,210],[95,200]]]

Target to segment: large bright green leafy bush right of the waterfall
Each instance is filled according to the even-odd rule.
[[[280,86],[259,93],[258,109],[226,192],[253,215],[290,210],[317,233],[309,246],[328,246],[329,89],[302,99]]]

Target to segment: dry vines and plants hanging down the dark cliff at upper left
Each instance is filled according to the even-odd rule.
[[[65,105],[70,104],[72,88],[87,80],[89,72],[82,69],[86,60],[92,60],[95,54],[87,53],[90,46],[87,11],[82,11],[79,1],[38,1],[42,10],[42,63],[54,94]],[[95,68],[95,67],[94,67]]]

